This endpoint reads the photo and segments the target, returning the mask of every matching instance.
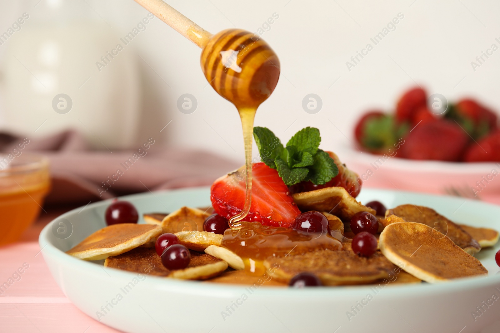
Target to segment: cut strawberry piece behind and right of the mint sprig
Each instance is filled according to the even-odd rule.
[[[338,175],[333,177],[329,182],[324,185],[314,185],[311,182],[301,182],[290,186],[290,191],[292,193],[298,192],[309,192],[313,190],[322,189],[325,187],[343,187],[352,197],[357,197],[359,191],[361,190],[362,181],[359,179],[359,175],[352,170],[349,170],[345,164],[342,164],[338,159],[338,156],[331,151],[328,151],[330,157],[335,161],[338,168]]]

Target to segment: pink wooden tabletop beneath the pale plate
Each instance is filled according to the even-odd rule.
[[[484,199],[500,204],[500,197]],[[21,242],[0,248],[0,333],[119,332],[72,305],[53,280],[40,254],[37,239],[41,229],[72,208],[47,210],[48,214],[40,216],[24,233]],[[15,275],[23,264],[29,267]],[[14,282],[8,289],[1,289],[9,278]]]

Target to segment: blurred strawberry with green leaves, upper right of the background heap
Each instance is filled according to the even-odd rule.
[[[446,111],[445,117],[456,121],[476,140],[497,129],[496,114],[470,98],[462,99],[451,106]]]

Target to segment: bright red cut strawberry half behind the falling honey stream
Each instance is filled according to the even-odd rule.
[[[220,177],[210,189],[215,212],[230,219],[243,210],[245,200],[244,167]],[[252,167],[250,212],[244,221],[260,222],[266,226],[290,227],[300,214],[278,172],[264,163]]]

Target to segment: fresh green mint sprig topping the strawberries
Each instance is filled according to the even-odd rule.
[[[291,137],[286,147],[265,127],[254,127],[253,137],[262,162],[276,169],[288,186],[301,181],[323,185],[338,174],[333,159],[319,149],[321,137],[317,128],[302,128]]]

